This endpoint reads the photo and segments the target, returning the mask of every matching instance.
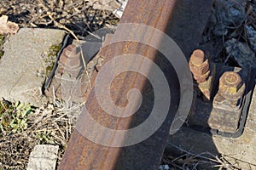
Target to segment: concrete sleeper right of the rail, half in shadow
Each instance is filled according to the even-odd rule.
[[[254,87],[255,88],[255,87]],[[169,139],[167,149],[170,153],[180,154],[187,150],[193,154],[211,153],[212,156],[224,156],[227,161],[241,169],[256,169],[256,91],[250,104],[246,126],[241,137],[232,139],[219,135],[201,133],[188,127],[182,127]],[[212,158],[212,157],[211,157]]]

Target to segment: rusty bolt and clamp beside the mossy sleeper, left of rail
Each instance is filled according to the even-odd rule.
[[[46,96],[55,95],[56,98],[84,101],[87,84],[84,81],[83,64],[79,48],[68,45],[63,49],[58,66],[49,88],[44,90]]]

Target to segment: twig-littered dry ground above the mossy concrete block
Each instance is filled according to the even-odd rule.
[[[106,25],[117,24],[119,19],[109,10],[95,9],[96,1],[88,0],[2,0],[0,14],[9,16],[9,20],[20,27],[56,28],[53,20],[67,26],[79,36],[88,35]]]

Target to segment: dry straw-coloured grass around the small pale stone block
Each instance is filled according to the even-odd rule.
[[[60,162],[83,104],[67,105],[58,101],[57,105],[47,104],[37,108],[27,116],[28,127],[20,133],[13,133],[11,129],[2,132],[0,169],[26,169],[29,154],[36,144],[59,145]]]

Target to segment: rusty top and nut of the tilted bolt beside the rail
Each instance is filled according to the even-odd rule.
[[[189,68],[196,82],[206,82],[210,75],[209,63],[201,49],[195,49],[189,60]]]

